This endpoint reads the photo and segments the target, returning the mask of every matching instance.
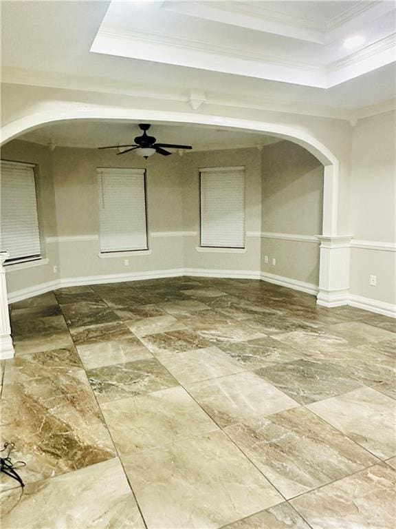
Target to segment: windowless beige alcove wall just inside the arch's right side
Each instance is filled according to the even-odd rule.
[[[264,233],[315,236],[322,233],[323,166],[306,149],[289,141],[267,145],[261,153]],[[268,263],[265,263],[265,256]],[[314,285],[319,282],[319,245],[263,238],[261,271]],[[272,264],[275,258],[276,264]]]

